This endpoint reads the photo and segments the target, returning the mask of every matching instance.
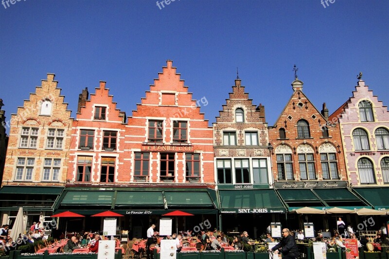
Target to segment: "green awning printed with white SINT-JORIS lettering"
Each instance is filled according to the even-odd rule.
[[[285,207],[272,189],[219,190],[221,213],[283,213]]]

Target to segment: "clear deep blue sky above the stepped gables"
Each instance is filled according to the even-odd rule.
[[[128,116],[167,59],[215,121],[236,78],[273,125],[292,94],[297,64],[303,92],[330,114],[363,72],[389,104],[389,1],[20,0],[0,5],[0,98],[6,115],[55,73],[72,116],[84,87],[107,81]],[[5,3],[6,5],[6,3]],[[7,6],[7,5],[6,5]]]

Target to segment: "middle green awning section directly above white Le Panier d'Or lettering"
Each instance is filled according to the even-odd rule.
[[[162,206],[162,191],[118,191],[115,206]]]

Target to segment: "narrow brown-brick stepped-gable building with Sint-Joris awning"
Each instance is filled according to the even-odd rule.
[[[237,78],[219,114],[213,123],[213,148],[222,228],[247,230],[257,237],[267,227],[265,222],[285,211],[269,189],[273,176],[265,107],[252,104]]]

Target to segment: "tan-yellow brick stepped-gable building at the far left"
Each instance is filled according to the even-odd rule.
[[[19,207],[24,207],[25,224],[43,223],[63,190],[73,120],[57,84],[54,74],[47,74],[11,115],[1,182],[3,224],[13,222]]]

